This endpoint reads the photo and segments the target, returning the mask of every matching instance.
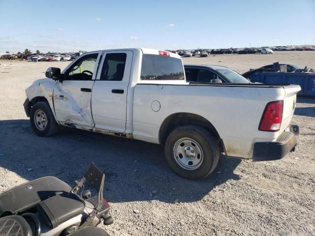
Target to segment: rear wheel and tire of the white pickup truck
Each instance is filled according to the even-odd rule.
[[[187,179],[204,178],[218,165],[219,140],[200,126],[181,126],[167,137],[165,157],[177,175]]]

